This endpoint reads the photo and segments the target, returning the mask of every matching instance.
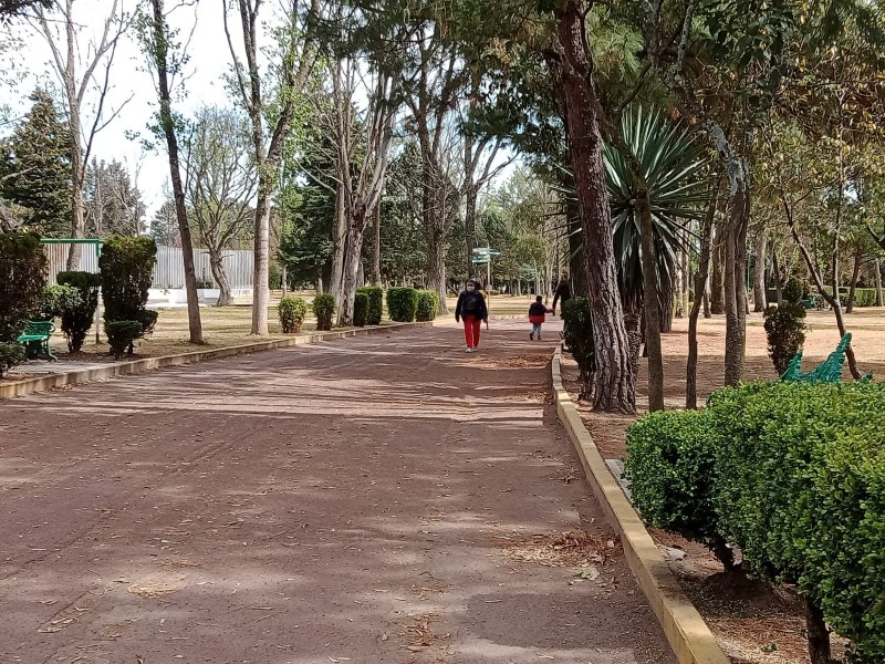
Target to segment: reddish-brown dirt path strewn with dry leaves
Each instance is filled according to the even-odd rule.
[[[674,662],[492,325],[3,402],[0,663]]]

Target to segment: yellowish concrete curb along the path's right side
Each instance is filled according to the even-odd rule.
[[[627,563],[664,629],[676,658],[679,664],[730,664],[731,660],[722,652],[716,636],[686,596],[593,443],[577,408],[562,385],[561,360],[562,347],[559,346],[552,365],[556,414],[581,457],[587,481],[605,516],[621,533]]]

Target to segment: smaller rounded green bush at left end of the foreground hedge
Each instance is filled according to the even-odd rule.
[[[717,447],[707,411],[652,413],[627,432],[625,471],[646,522],[702,543],[731,569],[714,508]]]

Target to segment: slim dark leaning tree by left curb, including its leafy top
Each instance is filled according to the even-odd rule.
[[[175,114],[171,102],[171,91],[176,76],[183,75],[187,54],[186,49],[183,49],[178,42],[174,41],[176,33],[169,29],[166,20],[164,0],[150,0],[150,13],[140,15],[142,40],[150,62],[152,72],[156,74],[159,125],[166,141],[166,153],[169,157],[169,178],[173,184],[175,215],[178,219],[178,236],[181,240],[190,343],[201,344],[204,343],[202,321],[200,320],[197,274],[194,266],[194,241],[190,237],[190,226],[187,220],[185,186],[181,181],[181,164],[178,149],[177,129],[180,126],[180,117]],[[264,283],[267,284],[267,279]]]

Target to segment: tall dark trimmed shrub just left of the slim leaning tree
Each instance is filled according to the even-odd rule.
[[[145,309],[156,256],[154,238],[111,236],[105,240],[98,258],[105,330],[112,322],[137,322],[139,325],[137,335],[129,341],[129,354],[133,353],[134,341],[153,332],[157,322],[157,312]],[[116,339],[131,334],[134,329],[133,325],[114,328],[117,331]],[[113,345],[112,352],[118,356]]]

